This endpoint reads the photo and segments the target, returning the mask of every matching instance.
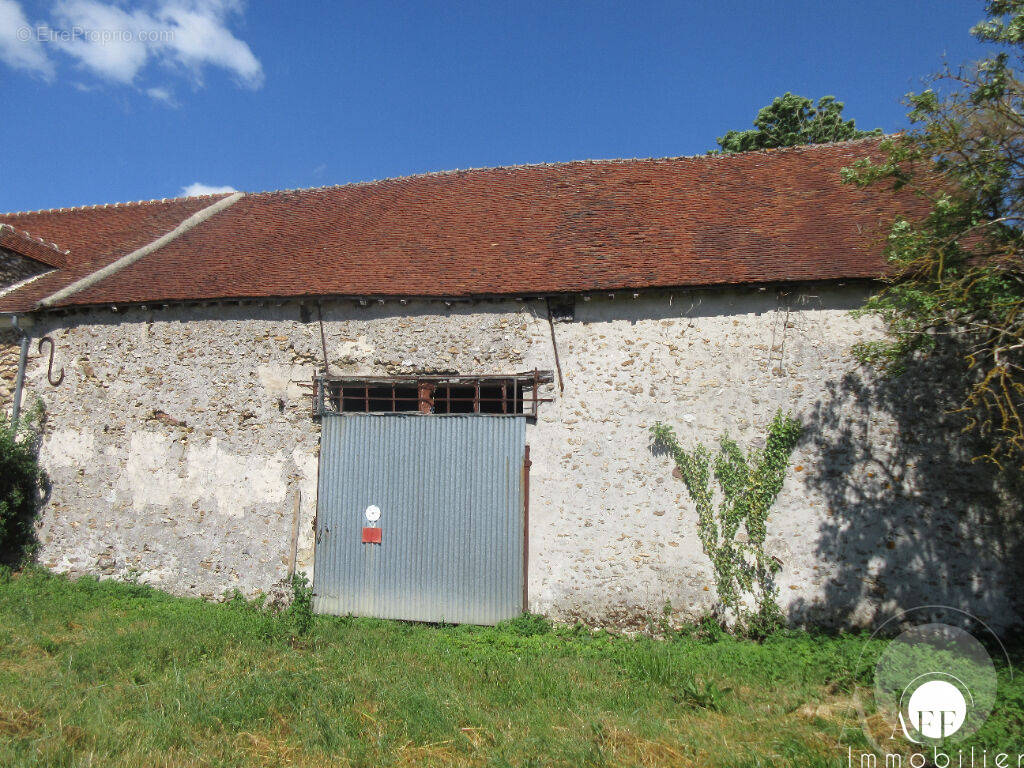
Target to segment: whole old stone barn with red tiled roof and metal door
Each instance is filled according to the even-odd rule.
[[[804,430],[766,550],[793,623],[1014,624],[1016,523],[928,388],[851,355],[919,205],[841,182],[874,152],[4,214],[0,396],[46,414],[38,558],[210,598],[300,571],[335,613],[692,617],[713,571],[649,430],[751,449],[782,410]]]

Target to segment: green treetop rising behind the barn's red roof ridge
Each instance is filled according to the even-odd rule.
[[[786,91],[758,113],[755,128],[729,131],[717,141],[722,152],[734,153],[881,135],[881,128],[860,131],[854,121],[843,120],[843,106],[835,96],[819,98],[815,106],[811,99]]]

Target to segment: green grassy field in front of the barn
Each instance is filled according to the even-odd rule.
[[[851,693],[884,645],[529,616],[300,625],[137,585],[0,579],[0,766],[839,766],[865,743]],[[1006,735],[1024,687],[1000,674],[1016,709],[986,728]]]

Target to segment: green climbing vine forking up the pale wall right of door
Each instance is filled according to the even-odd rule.
[[[800,422],[776,412],[762,451],[743,456],[728,435],[717,454],[697,443],[686,451],[671,426],[651,427],[653,444],[672,455],[697,509],[697,536],[715,569],[719,600],[749,627],[770,629],[781,622],[774,574],[778,561],[765,552],[768,513],[782,489],[790,458],[800,439]],[[711,478],[718,481],[718,506]],[[745,534],[745,536],[741,536]],[[744,610],[746,597],[757,612]]]

